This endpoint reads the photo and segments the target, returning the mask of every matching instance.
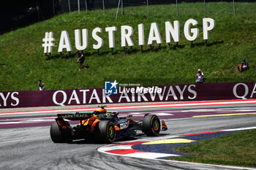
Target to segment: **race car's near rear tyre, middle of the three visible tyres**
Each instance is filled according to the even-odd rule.
[[[95,139],[99,143],[110,143],[115,140],[116,130],[113,122],[101,120],[96,125]]]

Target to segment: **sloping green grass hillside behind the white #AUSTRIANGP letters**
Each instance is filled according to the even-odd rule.
[[[210,31],[209,47],[204,45],[202,3],[179,4],[179,16],[176,6],[150,6],[150,15],[146,7],[127,7],[124,15],[118,15],[116,9],[90,12],[72,12],[59,15],[26,28],[20,28],[0,36],[0,90],[37,90],[37,81],[45,82],[49,89],[102,88],[105,81],[117,80],[121,83],[140,83],[141,85],[170,85],[195,82],[195,72],[203,69],[206,82],[251,82],[255,81],[256,70],[256,3],[236,3],[236,17],[233,16],[232,3],[208,3],[207,17],[216,21],[216,28]],[[200,36],[190,47],[184,38],[183,27],[186,20],[193,18],[199,23]],[[145,27],[146,42],[150,24],[157,22],[165,42],[165,21],[179,20],[181,42],[176,50],[165,43],[154,50],[148,45],[140,52],[138,46],[138,24]],[[120,27],[132,26],[135,30],[132,39],[135,43],[132,53],[126,53],[121,47]],[[108,34],[105,27],[116,26],[116,48],[114,55],[108,48]],[[102,28],[104,47],[93,50],[94,40],[91,31]],[[90,68],[78,71],[75,55],[75,29],[87,28],[89,48],[86,49],[86,61]],[[61,31],[68,31],[72,43],[71,58],[57,53]],[[53,31],[56,38],[50,60],[43,54],[42,38],[46,31]],[[238,74],[236,66],[246,58],[251,69]]]

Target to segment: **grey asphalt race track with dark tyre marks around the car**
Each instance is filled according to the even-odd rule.
[[[132,114],[136,118],[146,112],[154,112],[165,120],[168,127],[167,131],[162,131],[161,136],[256,126],[256,104],[118,111],[120,115]],[[219,114],[225,115],[215,116]],[[214,116],[205,117],[207,115]],[[85,141],[54,144],[49,133],[54,117],[54,114],[0,114],[0,169],[241,169],[107,155],[97,151],[97,148],[105,144]],[[135,139],[148,138],[139,134]]]

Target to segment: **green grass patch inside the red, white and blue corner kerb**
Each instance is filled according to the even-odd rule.
[[[195,154],[177,161],[256,167],[256,130],[238,131],[215,139],[201,140],[176,152]]]

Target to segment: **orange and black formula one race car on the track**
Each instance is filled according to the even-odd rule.
[[[118,112],[107,110],[102,106],[93,113],[58,114],[50,126],[50,137],[55,143],[72,142],[75,139],[93,139],[95,142],[110,143],[114,140],[136,136],[138,130],[146,136],[158,136],[161,129],[166,131],[165,121],[160,123],[157,115],[146,114],[143,120],[131,117],[118,117]],[[66,120],[79,120],[74,127]]]

